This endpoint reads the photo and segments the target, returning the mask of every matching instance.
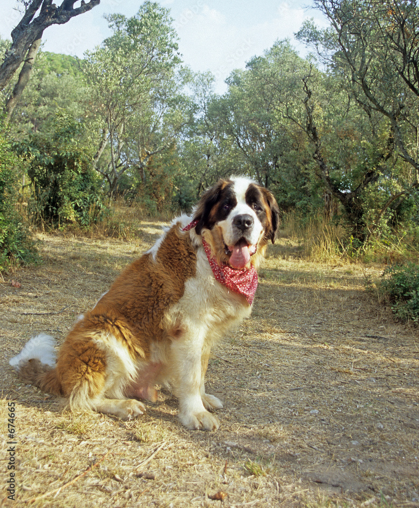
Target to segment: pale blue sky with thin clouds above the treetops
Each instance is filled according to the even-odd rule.
[[[61,4],[61,0],[56,0]],[[83,57],[111,34],[104,14],[134,16],[140,0],[101,0],[91,11],[72,18],[64,25],[44,31],[44,51]],[[304,19],[314,18],[318,26],[327,25],[322,15],[310,8],[311,0],[161,0],[170,9],[179,37],[179,52],[194,72],[211,71],[216,78],[215,91],[224,93],[224,80],[234,69],[272,47],[277,40],[289,39],[302,56],[307,50],[294,39]],[[77,7],[79,3],[75,4]],[[16,0],[0,0],[0,37],[10,33],[20,21],[22,9]]]

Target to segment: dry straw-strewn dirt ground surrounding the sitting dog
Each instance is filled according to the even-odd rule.
[[[158,230],[143,223],[132,242],[39,235],[43,263],[4,275],[0,503],[419,506],[419,331],[365,290],[383,267],[313,264],[289,240],[272,246],[252,317],[209,363],[207,392],[225,405],[215,432],[183,428],[164,390],[122,422],[62,413],[19,381],[10,357],[33,334],[62,341]]]

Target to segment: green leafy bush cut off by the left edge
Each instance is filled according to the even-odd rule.
[[[32,263],[38,260],[34,242],[16,211],[18,175],[22,165],[0,125],[0,271],[16,262]]]

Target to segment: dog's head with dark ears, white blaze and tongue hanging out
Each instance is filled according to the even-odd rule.
[[[266,244],[274,243],[279,208],[272,193],[245,177],[220,180],[208,189],[194,213],[195,232],[218,263],[242,269],[257,265]]]

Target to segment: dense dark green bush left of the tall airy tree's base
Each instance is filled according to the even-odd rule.
[[[79,143],[83,125],[58,112],[54,132],[31,134],[15,144],[28,161],[34,185],[33,213],[38,223],[89,226],[105,211],[103,193],[91,158]]]

